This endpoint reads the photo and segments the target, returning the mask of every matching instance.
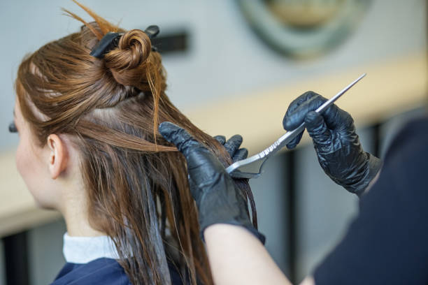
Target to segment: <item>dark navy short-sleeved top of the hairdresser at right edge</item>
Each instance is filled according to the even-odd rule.
[[[428,284],[428,118],[396,136],[359,208],[315,284]]]

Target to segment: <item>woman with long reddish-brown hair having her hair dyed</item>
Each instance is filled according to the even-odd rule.
[[[29,191],[66,221],[67,263],[53,284],[212,284],[185,159],[155,126],[174,122],[224,165],[231,158],[169,101],[150,34],[78,5],[95,22],[66,11],[82,29],[22,61],[10,126]],[[123,34],[90,55],[108,32]],[[236,183],[246,200],[248,183]]]

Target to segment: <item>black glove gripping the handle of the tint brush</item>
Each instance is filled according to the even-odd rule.
[[[382,162],[364,152],[348,112],[336,105],[331,105],[322,115],[315,112],[325,101],[326,98],[315,92],[299,96],[285,113],[284,129],[291,131],[305,122],[324,172],[331,180],[359,196],[376,176]],[[303,132],[287,147],[296,147],[302,135]]]

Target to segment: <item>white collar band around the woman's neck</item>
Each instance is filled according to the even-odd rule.
[[[99,237],[71,237],[64,233],[64,258],[69,263],[88,263],[98,258],[119,259],[113,240],[107,235]]]

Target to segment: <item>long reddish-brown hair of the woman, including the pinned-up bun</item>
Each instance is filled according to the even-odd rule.
[[[80,150],[91,225],[115,242],[133,284],[171,284],[169,264],[192,284],[212,284],[185,159],[157,133],[169,121],[204,142],[224,165],[231,159],[165,94],[161,56],[141,30],[124,31],[87,11],[95,22],[26,57],[17,73],[17,100],[38,145],[68,134]],[[90,51],[108,31],[122,31],[104,59]],[[236,182],[254,203],[248,182]]]

